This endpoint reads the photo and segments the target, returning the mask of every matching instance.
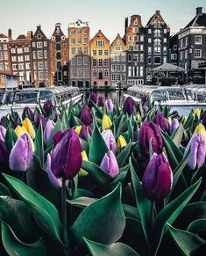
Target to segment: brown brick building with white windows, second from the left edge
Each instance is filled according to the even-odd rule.
[[[32,31],[10,40],[12,71],[19,76],[19,83],[32,83]]]

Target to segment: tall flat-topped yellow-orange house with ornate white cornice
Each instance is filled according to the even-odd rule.
[[[69,83],[82,88],[90,87],[89,23],[78,19],[68,25]]]

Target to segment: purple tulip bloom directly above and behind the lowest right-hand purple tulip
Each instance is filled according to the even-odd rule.
[[[145,121],[139,129],[139,149],[144,157],[149,156],[149,143],[151,138],[153,151],[160,154],[163,150],[163,140],[159,127],[153,122]]]

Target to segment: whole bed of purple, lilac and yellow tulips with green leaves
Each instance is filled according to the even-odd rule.
[[[0,122],[0,255],[203,255],[206,113],[91,94]]]

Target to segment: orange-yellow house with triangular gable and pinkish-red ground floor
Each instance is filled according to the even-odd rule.
[[[109,87],[110,81],[110,40],[101,30],[90,40],[91,87]]]

